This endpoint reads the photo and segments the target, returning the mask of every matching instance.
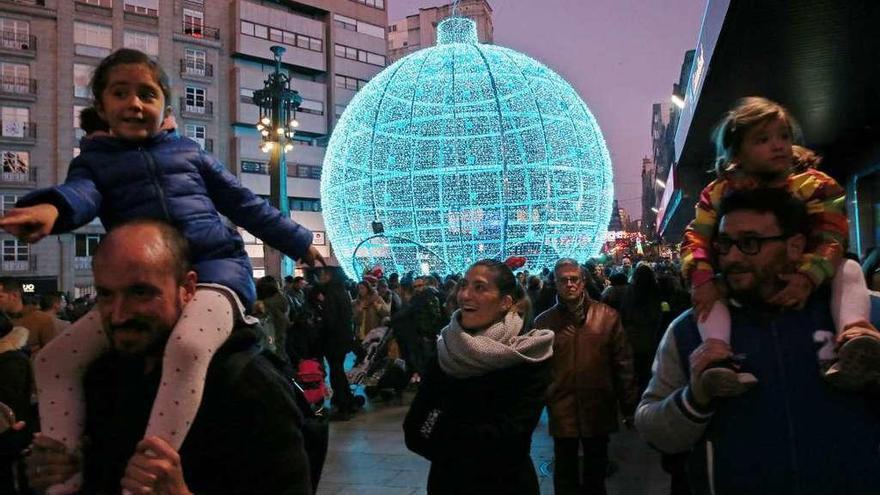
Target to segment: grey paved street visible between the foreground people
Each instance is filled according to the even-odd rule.
[[[318,495],[409,495],[425,493],[428,462],[406,449],[401,425],[412,398],[368,404],[351,421],[331,423],[330,451]],[[660,456],[635,432],[612,437],[611,459],[619,471],[608,480],[609,495],[666,495],[669,481]],[[542,417],[532,442],[541,493],[553,493],[553,441]]]

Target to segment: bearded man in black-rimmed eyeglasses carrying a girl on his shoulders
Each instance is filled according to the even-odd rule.
[[[675,320],[636,428],[664,452],[690,452],[694,493],[877,493],[876,396],[831,387],[818,371],[820,353],[835,345],[829,291],[802,309],[767,302],[804,252],[804,204],[781,189],[755,189],[730,194],[718,215],[715,266],[728,289],[731,344],[702,342],[691,311]],[[733,356],[731,346],[744,354]],[[707,368],[732,361],[758,378],[754,388],[730,398],[701,389]]]

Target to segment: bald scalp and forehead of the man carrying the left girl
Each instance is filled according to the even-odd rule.
[[[98,243],[92,271],[100,268],[103,256],[139,253],[143,261],[157,263],[182,281],[190,271],[189,243],[176,228],[160,220],[139,219],[118,225]]]

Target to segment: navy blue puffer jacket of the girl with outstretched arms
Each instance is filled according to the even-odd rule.
[[[246,307],[256,300],[244,242],[222,213],[286,255],[298,259],[312,233],[241,185],[216,158],[175,131],[139,143],[84,139],[82,154],[59,186],[34,191],[17,206],[50,203],[59,216],[53,234],[100,217],[108,230],[126,220],[155,218],[183,232],[199,282],[234,290]]]

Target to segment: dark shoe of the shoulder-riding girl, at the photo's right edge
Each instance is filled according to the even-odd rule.
[[[880,380],[880,339],[861,335],[846,341],[837,353],[837,362],[825,372],[825,380],[850,391]]]

